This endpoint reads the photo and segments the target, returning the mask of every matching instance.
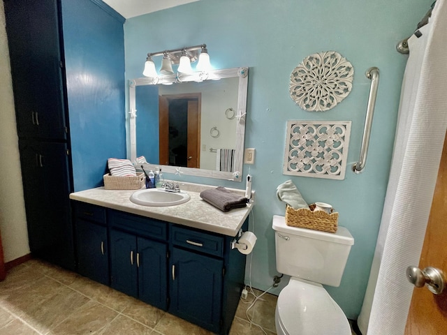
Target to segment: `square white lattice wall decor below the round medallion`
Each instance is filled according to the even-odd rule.
[[[351,121],[287,121],[283,174],[344,179]]]

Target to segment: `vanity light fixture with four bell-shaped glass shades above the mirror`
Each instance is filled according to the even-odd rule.
[[[201,51],[199,54],[199,50]],[[190,81],[196,80],[196,76],[193,73],[193,69],[191,68],[191,63],[198,60],[198,64],[196,66],[196,71],[200,73],[207,73],[210,71],[210,55],[208,54],[207,45],[194,45],[192,47],[182,47],[182,49],[173,49],[173,50],[165,50],[161,52],[150,52],[147,54],[147,59],[145,62],[145,69],[143,70],[143,75],[145,77],[159,77],[155,70],[155,64],[152,57],[162,56],[163,60],[161,61],[160,74],[165,77],[168,75],[174,75],[173,64],[179,64],[177,68],[177,72],[184,75],[192,75],[191,78],[186,76],[186,80],[180,81]],[[173,76],[173,81],[177,81],[178,76]],[[203,76],[200,76],[203,77]],[[161,79],[161,78],[160,78]],[[165,78],[166,80],[161,80],[163,84],[170,78]],[[199,78],[200,80],[200,78]]]

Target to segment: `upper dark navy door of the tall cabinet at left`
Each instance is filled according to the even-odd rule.
[[[66,139],[56,0],[6,0],[6,30],[19,137]]]

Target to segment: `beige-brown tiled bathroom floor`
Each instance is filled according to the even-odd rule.
[[[256,292],[259,294],[260,292]],[[249,295],[248,301],[252,296]],[[240,302],[230,335],[272,335],[277,297],[266,294],[246,311]],[[208,335],[164,311],[121,292],[50,265],[29,260],[8,272],[0,282],[2,335]]]

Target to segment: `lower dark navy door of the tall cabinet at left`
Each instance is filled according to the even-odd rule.
[[[67,146],[20,140],[19,148],[31,253],[73,270]]]

